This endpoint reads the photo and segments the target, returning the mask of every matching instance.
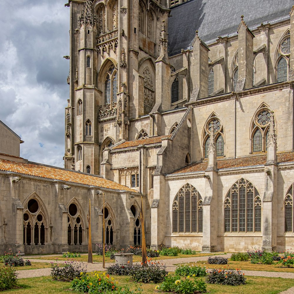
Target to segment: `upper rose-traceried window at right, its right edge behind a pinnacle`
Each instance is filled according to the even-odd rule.
[[[272,112],[263,105],[256,112],[251,123],[250,152],[264,152],[267,150],[268,130]]]

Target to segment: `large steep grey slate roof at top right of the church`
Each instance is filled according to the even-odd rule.
[[[192,46],[195,31],[204,42],[235,33],[240,16],[249,28],[281,17],[289,18],[292,0],[191,0],[171,8],[168,18],[169,54]]]

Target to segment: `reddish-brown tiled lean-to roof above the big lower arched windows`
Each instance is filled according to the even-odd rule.
[[[241,158],[231,158],[218,160],[218,170],[222,168],[238,168],[238,167],[249,167],[249,166],[259,166],[266,163],[266,154],[265,155],[255,155]],[[283,152],[277,154],[278,163],[285,162],[294,162],[294,152]],[[207,168],[207,161],[200,163],[193,163],[184,168],[179,169],[178,171],[173,172],[172,174],[177,173],[193,173],[197,171],[205,171]]]

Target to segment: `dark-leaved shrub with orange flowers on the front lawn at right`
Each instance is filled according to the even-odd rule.
[[[245,284],[246,278],[240,270],[224,270],[224,269],[213,269],[208,271],[207,283],[220,284],[220,285],[243,285]]]

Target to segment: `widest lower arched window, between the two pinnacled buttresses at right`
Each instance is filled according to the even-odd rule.
[[[224,201],[225,232],[261,232],[261,199],[253,184],[236,181]]]

